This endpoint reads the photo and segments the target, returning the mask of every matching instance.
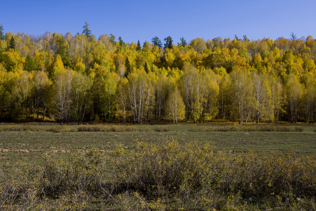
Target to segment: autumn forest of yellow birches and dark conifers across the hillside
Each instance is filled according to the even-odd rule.
[[[316,40],[3,34],[0,121],[314,122]]]

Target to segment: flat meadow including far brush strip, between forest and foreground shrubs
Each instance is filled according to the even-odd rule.
[[[233,127],[233,128],[232,128]],[[51,153],[84,152],[92,147],[106,156],[122,144],[127,150],[133,147],[132,140],[161,146],[167,139],[176,139],[181,145],[192,140],[209,143],[215,151],[223,152],[270,152],[293,151],[303,156],[316,152],[316,127],[313,125],[279,125],[209,123],[178,125],[0,125],[0,166],[10,171],[17,163],[28,161],[41,163]],[[299,130],[297,130],[299,127]],[[221,129],[224,131],[214,131]],[[281,131],[258,131],[276,128]],[[296,129],[296,130],[295,130]],[[79,131],[78,131],[79,130]],[[225,131],[228,130],[228,131]],[[267,129],[265,129],[267,130]],[[303,130],[303,131],[301,131]],[[89,132],[90,131],[90,132]],[[297,132],[301,131],[301,132]],[[109,158],[109,157],[108,157]],[[108,159],[110,160],[110,159]]]

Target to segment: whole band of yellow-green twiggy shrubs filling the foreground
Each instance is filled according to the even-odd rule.
[[[313,210],[316,162],[294,152],[214,152],[176,140],[134,140],[106,166],[100,150],[47,156],[0,170],[2,210]]]

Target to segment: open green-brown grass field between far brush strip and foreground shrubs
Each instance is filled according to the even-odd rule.
[[[219,127],[192,124],[160,126],[169,127],[168,132],[156,132],[157,126],[154,125],[132,125],[132,127],[140,129],[140,131],[132,132],[54,133],[46,131],[47,128],[53,126],[32,127],[37,127],[40,131],[0,130],[0,166],[4,171],[10,171],[17,163],[26,160],[30,163],[40,164],[45,155],[49,153],[87,151],[91,147],[105,152],[110,161],[109,156],[117,144],[120,143],[127,150],[132,150],[132,140],[137,138],[158,146],[170,138],[177,139],[181,145],[185,145],[191,140],[199,140],[215,146],[216,151],[228,153],[294,151],[298,155],[313,156],[316,152],[316,132],[313,132],[314,127],[309,125],[303,126],[303,132],[190,132],[189,129],[192,128]],[[76,130],[78,126],[68,127]]]

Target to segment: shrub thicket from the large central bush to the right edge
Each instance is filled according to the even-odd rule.
[[[214,153],[211,146],[197,141],[184,149],[176,140],[160,148],[135,140],[134,146],[133,152],[119,147],[112,155],[115,184],[129,190],[118,195],[122,206],[146,210],[149,202],[162,198],[161,207],[174,210],[259,210],[260,206],[284,205],[286,199],[288,206],[280,210],[313,207],[313,158],[297,157],[293,152],[264,156]],[[304,201],[300,195],[306,203],[297,204],[298,199]]]

